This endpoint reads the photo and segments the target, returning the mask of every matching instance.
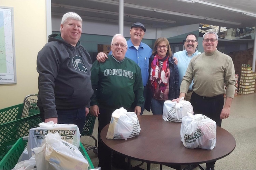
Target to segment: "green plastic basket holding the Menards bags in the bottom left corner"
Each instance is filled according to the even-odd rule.
[[[14,168],[18,162],[19,156],[24,151],[26,145],[27,145],[27,140],[24,140],[23,138],[19,138],[17,142],[13,145],[13,147],[10,149],[10,151],[1,160],[0,169],[10,170]],[[94,169],[93,163],[91,163],[91,159],[89,158],[87,152],[85,151],[81,143],[80,143],[79,149],[83,154],[83,156],[85,157],[85,159],[88,161],[89,169]]]

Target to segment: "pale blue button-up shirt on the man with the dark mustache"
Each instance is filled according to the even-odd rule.
[[[187,55],[186,50],[178,51],[178,52],[175,52],[173,54],[173,56],[176,57],[177,60],[178,60],[178,65],[177,66],[178,66],[179,75],[180,75],[179,87],[181,87],[182,78],[183,78],[183,76],[185,75],[185,73],[187,71],[187,67],[188,67],[188,64],[189,64],[191,58],[193,58],[194,56],[196,56],[198,54],[201,54],[201,52],[199,52],[197,49],[196,49],[196,52],[193,53],[191,56]],[[189,86],[189,90],[192,90],[193,84],[194,84],[194,82],[192,81],[190,86]]]

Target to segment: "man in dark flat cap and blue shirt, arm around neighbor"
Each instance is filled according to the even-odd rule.
[[[145,32],[146,32],[146,28],[142,23],[136,22],[132,24],[130,29],[131,38],[127,41],[128,49],[126,51],[125,56],[133,60],[135,63],[137,63],[141,69],[142,82],[144,86],[143,97],[146,100],[146,90],[147,90],[146,85],[148,81],[148,64],[149,64],[149,58],[152,54],[152,49],[148,45],[141,42]],[[108,59],[108,57],[105,53],[100,52],[97,55],[96,59],[99,62],[105,62],[105,60]],[[142,115],[144,111],[144,104],[145,104],[145,101],[141,106],[140,115]]]

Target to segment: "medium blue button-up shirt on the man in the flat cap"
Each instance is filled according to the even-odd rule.
[[[152,55],[152,49],[146,45],[145,43],[140,43],[138,50],[133,46],[131,39],[127,41],[127,51],[125,57],[130,58],[141,69],[142,75],[142,82],[143,86],[147,85],[148,82],[148,65],[149,65],[149,58]],[[109,53],[111,54],[112,51]]]

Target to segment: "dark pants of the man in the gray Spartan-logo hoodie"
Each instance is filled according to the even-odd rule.
[[[39,108],[41,119],[44,122],[44,110]],[[62,124],[76,124],[79,128],[80,134],[83,132],[85,117],[85,106],[77,109],[57,109],[58,123]]]

